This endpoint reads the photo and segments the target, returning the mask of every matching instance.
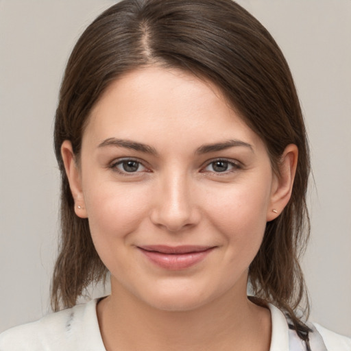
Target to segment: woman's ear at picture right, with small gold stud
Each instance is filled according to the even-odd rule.
[[[298,147],[294,144],[288,145],[281,158],[279,174],[274,175],[271,189],[271,203],[267,209],[267,221],[271,221],[282,213],[287,206],[293,190],[296,167],[298,165]]]

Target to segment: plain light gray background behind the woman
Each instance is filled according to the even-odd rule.
[[[0,331],[49,311],[58,88],[75,41],[114,2],[0,0]],[[311,319],[351,336],[351,1],[239,3],[285,53],[306,118],[317,187],[303,262]]]

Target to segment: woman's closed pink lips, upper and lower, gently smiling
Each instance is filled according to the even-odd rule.
[[[215,249],[213,246],[199,245],[182,245],[182,246],[167,246],[167,245],[146,245],[138,247],[138,250],[159,267],[180,270],[186,269],[203,261],[206,256]]]

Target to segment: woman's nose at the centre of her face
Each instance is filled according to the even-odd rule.
[[[194,188],[191,188],[186,175],[163,177],[154,193],[152,222],[169,232],[180,232],[199,223],[200,211],[195,204]]]

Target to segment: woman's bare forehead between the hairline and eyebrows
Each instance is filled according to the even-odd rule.
[[[87,136],[96,143],[109,137],[147,143],[258,138],[215,84],[154,66],[126,73],[108,86],[90,114],[83,140]]]

